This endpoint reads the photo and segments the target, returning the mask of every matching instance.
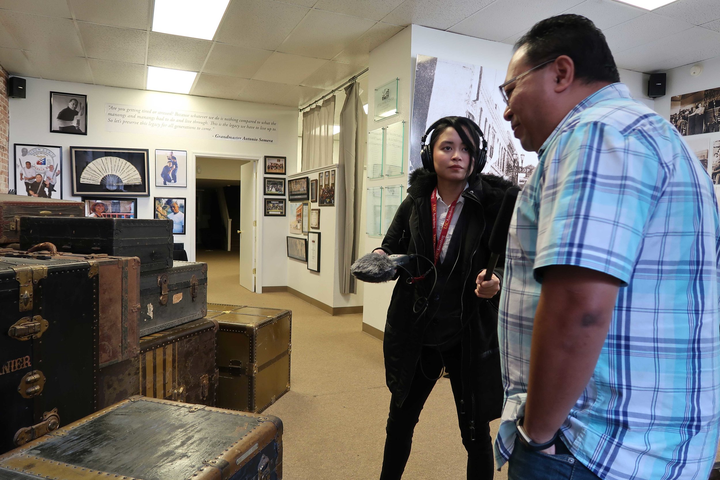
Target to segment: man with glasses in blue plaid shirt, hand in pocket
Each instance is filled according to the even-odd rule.
[[[707,479],[720,417],[720,222],[710,178],[631,99],[577,15],[516,43],[501,89],[539,163],[500,300],[510,480]]]

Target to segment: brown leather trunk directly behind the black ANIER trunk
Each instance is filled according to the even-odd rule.
[[[140,315],[140,259],[112,257],[104,253],[58,254],[53,244],[37,245],[48,250],[24,252],[0,248],[6,258],[93,261],[99,267],[99,367],[138,356],[138,317]]]

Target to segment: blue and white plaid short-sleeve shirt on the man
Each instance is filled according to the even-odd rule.
[[[708,478],[720,419],[717,208],[692,150],[624,84],[567,114],[510,225],[498,466],[525,408],[542,267],[573,265],[621,289],[593,376],[562,426],[568,448],[603,479]]]

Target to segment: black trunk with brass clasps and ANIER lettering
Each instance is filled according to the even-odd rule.
[[[0,452],[96,410],[98,279],[96,263],[0,258]]]

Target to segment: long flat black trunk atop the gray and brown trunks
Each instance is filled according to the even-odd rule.
[[[63,253],[140,258],[140,271],[173,266],[173,221],[137,218],[24,217],[20,250],[50,242]]]

